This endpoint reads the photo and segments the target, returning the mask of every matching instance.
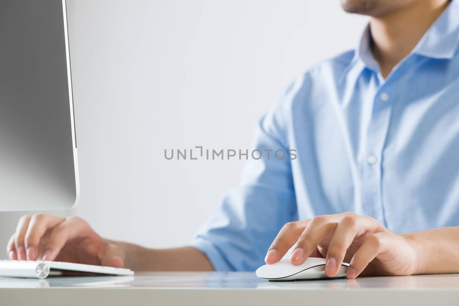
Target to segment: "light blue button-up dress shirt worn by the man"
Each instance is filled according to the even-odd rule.
[[[219,271],[253,271],[290,221],[351,211],[397,233],[459,226],[459,1],[384,79],[366,28],[260,120],[239,186],[190,242]]]

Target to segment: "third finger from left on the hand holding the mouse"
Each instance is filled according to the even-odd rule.
[[[330,277],[336,276],[346,256],[346,251],[355,237],[364,233],[374,233],[378,227],[379,223],[376,220],[358,215],[347,215],[341,218],[328,246],[325,274]]]

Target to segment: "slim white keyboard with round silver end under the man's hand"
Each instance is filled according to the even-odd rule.
[[[134,275],[134,271],[125,268],[85,265],[81,263],[0,260],[0,276],[44,279],[48,275],[63,275],[65,272]]]

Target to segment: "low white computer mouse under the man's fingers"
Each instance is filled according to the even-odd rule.
[[[348,263],[341,264],[336,277],[346,276]],[[325,275],[325,258],[309,257],[301,265],[292,265],[288,259],[272,265],[264,265],[255,272],[261,279],[268,280],[298,280],[298,279],[329,279]]]

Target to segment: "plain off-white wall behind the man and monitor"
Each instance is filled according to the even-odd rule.
[[[353,48],[366,18],[338,0],[67,0],[81,201],[102,236],[180,246],[244,161],[257,120],[309,66]],[[23,213],[0,213],[0,244]],[[0,252],[6,258],[6,252]]]

